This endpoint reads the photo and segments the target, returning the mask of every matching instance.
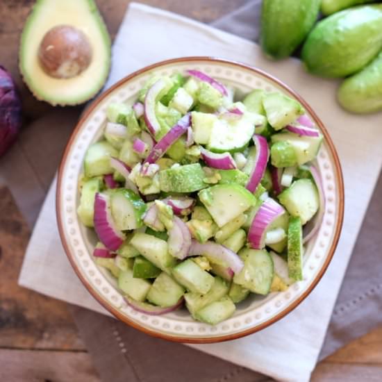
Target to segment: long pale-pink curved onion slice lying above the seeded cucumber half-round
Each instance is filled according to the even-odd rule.
[[[231,268],[235,274],[239,273],[244,267],[242,259],[235,252],[222,244],[211,241],[202,244],[197,240],[192,240],[188,256],[206,256],[211,263],[224,264],[226,267]]]

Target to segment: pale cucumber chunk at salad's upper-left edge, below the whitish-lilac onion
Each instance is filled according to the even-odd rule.
[[[85,176],[92,178],[92,176],[112,174],[114,172],[110,166],[112,156],[118,156],[118,151],[109,142],[103,140],[91,144],[86,151],[83,164]]]

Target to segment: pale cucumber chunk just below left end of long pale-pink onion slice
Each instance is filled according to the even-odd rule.
[[[206,294],[214,283],[213,276],[201,269],[190,258],[176,265],[172,269],[172,274],[176,281],[190,292]]]

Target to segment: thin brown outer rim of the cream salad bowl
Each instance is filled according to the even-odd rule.
[[[338,201],[338,219],[336,219],[335,224],[335,232],[333,235],[333,242],[331,244],[331,247],[329,248],[328,254],[326,256],[326,260],[324,262],[324,265],[322,265],[322,268],[319,270],[317,276],[313,280],[313,282],[310,284],[310,286],[307,288],[307,290],[301,294],[301,296],[296,300],[293,301],[292,304],[288,305],[283,311],[281,311],[278,315],[275,315],[274,317],[268,319],[267,321],[263,322],[262,324],[259,324],[258,326],[251,327],[249,329],[246,329],[244,331],[240,331],[238,333],[227,333],[226,335],[219,335],[217,337],[204,337],[204,338],[188,338],[188,337],[182,337],[182,336],[176,336],[176,335],[167,335],[165,333],[160,333],[158,331],[154,331],[151,329],[148,329],[147,327],[138,324],[136,322],[133,322],[131,319],[126,317],[126,315],[123,315],[117,308],[114,308],[111,304],[108,304],[107,301],[103,300],[99,294],[92,288],[92,285],[83,277],[81,274],[80,269],[78,269],[78,266],[76,265],[76,262],[74,261],[74,258],[72,257],[72,253],[69,250],[69,245],[67,244],[66,238],[65,238],[65,232],[63,229],[63,220],[62,217],[62,211],[61,211],[61,183],[63,182],[63,170],[65,167],[65,163],[67,160],[67,155],[69,153],[69,149],[76,139],[76,135],[78,133],[78,130],[81,128],[82,124],[85,122],[85,120],[88,118],[90,113],[97,108],[99,103],[108,97],[110,93],[112,93],[114,90],[119,88],[122,84],[126,83],[126,81],[131,80],[131,78],[134,78],[135,76],[138,76],[140,74],[150,72],[153,69],[156,69],[158,67],[164,66],[164,65],[170,65],[170,64],[176,64],[176,63],[185,63],[185,62],[194,62],[194,61],[207,61],[207,62],[213,62],[213,63],[222,63],[222,64],[228,64],[233,65],[235,67],[239,67],[242,69],[247,69],[251,72],[254,72],[255,74],[259,76],[263,76],[267,79],[267,81],[271,81],[273,83],[276,83],[279,87],[283,88],[284,90],[287,90],[290,94],[292,94],[292,97],[297,99],[301,103],[302,106],[308,111],[308,113],[313,117],[316,124],[319,126],[320,131],[322,131],[324,135],[324,139],[326,144],[329,147],[329,152],[331,153],[331,156],[333,157],[333,167],[335,168],[335,172],[338,174],[338,194],[339,194],[339,201]],[[326,272],[326,269],[329,267],[329,264],[331,263],[331,260],[333,258],[335,249],[338,244],[338,240],[340,239],[340,233],[342,230],[342,224],[344,219],[344,181],[343,181],[343,175],[342,175],[342,167],[340,165],[340,160],[338,158],[338,153],[335,149],[335,146],[333,144],[333,141],[331,139],[331,136],[329,135],[329,132],[327,131],[326,127],[322,123],[321,119],[316,115],[313,108],[310,107],[310,105],[294,90],[292,90],[288,85],[285,85],[283,81],[277,79],[276,77],[272,76],[271,74],[267,74],[267,72],[264,72],[262,69],[258,69],[257,67],[253,67],[251,65],[247,65],[244,63],[240,63],[235,60],[226,60],[223,58],[216,58],[216,57],[210,57],[210,56],[190,56],[190,57],[181,57],[181,58],[172,58],[169,60],[162,60],[158,63],[154,63],[152,65],[148,65],[146,67],[143,67],[142,69],[139,69],[128,76],[125,76],[121,80],[117,81],[113,86],[108,88],[105,92],[99,95],[90,106],[83,112],[81,115],[81,118],[78,120],[76,127],[72,131],[72,134],[70,135],[70,138],[65,146],[65,150],[63,152],[63,156],[60,160],[60,166],[58,167],[58,180],[57,180],[57,188],[56,188],[56,219],[58,224],[58,232],[60,234],[60,239],[63,244],[63,248],[65,250],[65,254],[67,255],[67,258],[69,259],[69,263],[71,263],[74,272],[76,272],[76,275],[81,280],[85,288],[90,292],[92,297],[96,299],[103,308],[108,310],[110,313],[112,313],[117,319],[124,322],[124,324],[128,324],[129,326],[132,326],[135,329],[138,329],[139,331],[142,331],[143,333],[152,335],[156,338],[161,338],[163,340],[170,340],[172,342],[183,342],[183,343],[192,343],[192,344],[206,344],[206,343],[215,343],[215,342],[224,342],[229,340],[236,340],[238,338],[242,338],[246,335],[250,335],[253,333],[256,333],[260,330],[263,330],[267,328],[267,326],[270,326],[274,324],[275,322],[279,321],[285,315],[288,315],[292,310],[297,308],[299,304],[301,304],[306,297],[308,297],[308,294],[313,291],[313,289],[316,287],[317,283],[322,279],[322,276]]]

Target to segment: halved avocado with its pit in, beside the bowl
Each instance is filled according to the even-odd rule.
[[[74,33],[66,34],[68,30]],[[108,30],[93,0],[37,0],[22,32],[19,69],[37,99],[53,106],[77,105],[94,97],[106,82],[110,46]],[[44,60],[42,47],[49,54]],[[49,65],[62,56],[78,58],[81,69],[78,62],[68,65],[65,61],[49,72]]]

